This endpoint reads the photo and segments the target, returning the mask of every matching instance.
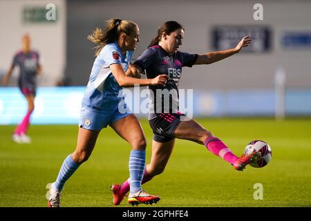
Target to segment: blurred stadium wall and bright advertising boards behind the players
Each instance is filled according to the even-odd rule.
[[[56,6],[56,21],[25,19],[25,14],[30,13],[31,17],[31,13],[44,10],[48,3]],[[286,79],[285,115],[311,115],[311,1],[261,1],[263,21],[253,19],[254,3],[3,0],[0,27],[6,35],[0,37],[0,77],[21,47],[21,35],[29,32],[44,68],[32,122],[77,124],[79,100],[94,61],[94,45],[86,39],[93,28],[104,26],[104,21],[111,17],[138,23],[141,41],[134,52],[135,59],[161,23],[176,20],[185,27],[181,50],[187,52],[221,50],[237,44],[244,34],[254,39],[248,51],[216,64],[182,70],[180,88],[194,89],[194,116],[275,115],[279,96],[274,79],[280,67]],[[11,87],[16,86],[16,77],[17,72],[10,81]],[[74,87],[53,87],[56,85]],[[17,123],[26,110],[19,91],[11,87],[0,88],[0,124]]]

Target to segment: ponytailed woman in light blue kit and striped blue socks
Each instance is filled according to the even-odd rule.
[[[129,157],[130,204],[151,204],[160,200],[142,190],[141,182],[145,166],[146,139],[135,115],[124,110],[124,97],[120,96],[122,87],[164,86],[166,75],[153,79],[135,79],[131,75],[129,64],[133,50],[139,41],[139,28],[136,23],[122,19],[107,21],[106,28],[96,28],[88,39],[99,44],[88,86],[82,100],[79,133],[75,151],[64,160],[57,180],[50,184],[48,206],[58,207],[60,194],[68,178],[80,164],[90,157],[97,136],[102,128],[111,126],[113,130],[132,146]],[[128,70],[128,72],[126,72]]]

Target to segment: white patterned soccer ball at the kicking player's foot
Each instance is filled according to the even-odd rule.
[[[270,162],[272,158],[272,151],[269,144],[263,142],[262,140],[253,140],[245,147],[244,154],[250,155],[255,151],[261,153],[261,157],[256,162],[249,164],[250,166],[258,168],[263,167]]]

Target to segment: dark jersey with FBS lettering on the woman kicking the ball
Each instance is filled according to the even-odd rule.
[[[147,78],[167,74],[169,80],[166,86],[149,86],[149,119],[156,113],[176,113],[178,111],[178,82],[182,67],[191,67],[198,55],[177,51],[168,55],[161,46],[152,46],[145,50],[134,62],[145,70]]]

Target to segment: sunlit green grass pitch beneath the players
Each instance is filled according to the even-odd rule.
[[[177,140],[164,173],[143,185],[161,196],[152,206],[311,206],[311,119],[197,121],[239,156],[251,140],[264,140],[272,161],[262,169],[235,171],[205,146]],[[149,162],[151,128],[147,120],[140,122]],[[77,126],[31,126],[32,144],[13,143],[14,128],[0,126],[0,206],[47,206],[46,184],[75,149]],[[128,177],[130,151],[111,128],[104,129],[90,159],[66,183],[62,206],[113,206],[110,186]],[[263,200],[254,199],[256,183],[263,185]],[[130,205],[124,199],[120,206]]]

